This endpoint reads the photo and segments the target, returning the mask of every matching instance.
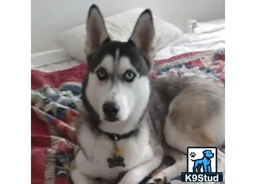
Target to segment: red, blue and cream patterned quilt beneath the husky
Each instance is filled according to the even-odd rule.
[[[225,50],[191,52],[155,61],[151,77],[199,75],[224,86],[224,68]],[[31,71],[32,184],[72,183],[69,163],[78,149],[74,119],[82,105],[80,83],[86,69],[86,64],[81,64],[51,73]],[[170,158],[164,159],[141,184],[170,164]]]

